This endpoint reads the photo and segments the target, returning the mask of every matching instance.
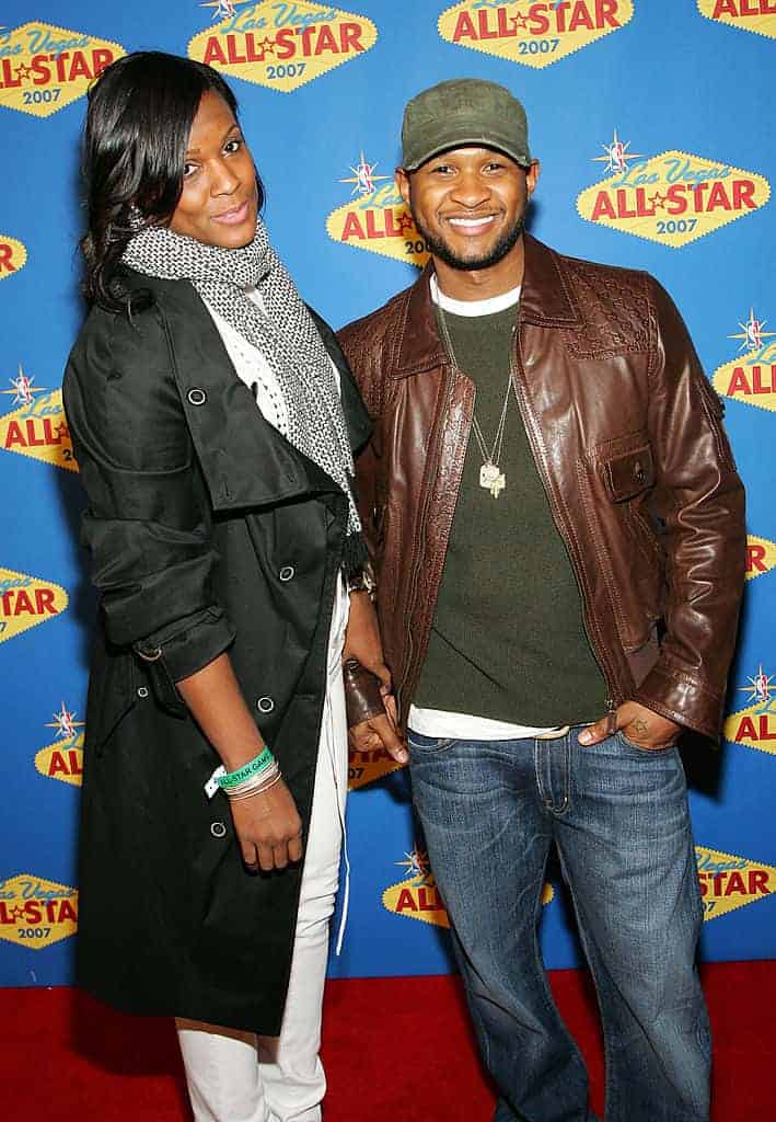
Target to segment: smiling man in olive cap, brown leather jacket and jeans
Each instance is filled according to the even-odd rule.
[[[742,489],[659,285],[524,232],[538,174],[504,88],[407,105],[397,182],[431,263],[340,337],[375,420],[358,475],[385,656],[497,1122],[592,1119],[537,950],[553,842],[602,1011],[607,1122],[700,1122],[675,744],[719,735]]]

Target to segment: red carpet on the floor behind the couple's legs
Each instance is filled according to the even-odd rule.
[[[776,963],[703,972],[714,1030],[712,1122],[776,1119]],[[553,990],[591,1073],[603,1074],[586,975]],[[490,1122],[458,980],[331,982],[324,1022],[326,1122]],[[172,1024],[122,1017],[72,990],[0,990],[2,1115],[25,1122],[185,1122]]]

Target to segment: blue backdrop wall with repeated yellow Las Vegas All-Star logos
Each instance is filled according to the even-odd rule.
[[[416,276],[391,186],[405,102],[443,79],[525,102],[543,172],[530,224],[558,249],[648,269],[726,398],[748,489],[749,577],[726,743],[687,752],[708,958],[776,955],[774,4],[760,0],[8,0],[0,28],[0,984],[71,980],[93,598],[58,394],[82,316],[78,138],[89,81],[160,48],[233,79],[272,239],[335,327]],[[773,329],[773,330],[769,330]],[[349,932],[332,973],[450,968],[404,772],[351,760]],[[516,855],[519,859],[519,855]],[[121,893],[123,886],[112,886]],[[543,946],[578,962],[551,870]],[[144,907],[141,899],[136,902]],[[483,901],[487,907],[487,901]]]

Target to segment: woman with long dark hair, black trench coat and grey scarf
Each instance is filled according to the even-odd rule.
[[[84,169],[92,306],[64,393],[101,613],[80,980],[178,1017],[197,1120],[310,1122],[349,607],[345,653],[388,681],[351,489],[368,419],[267,241],[215,71],[110,66]],[[357,719],[380,708],[362,700]]]

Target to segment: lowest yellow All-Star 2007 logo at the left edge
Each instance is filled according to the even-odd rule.
[[[78,893],[33,873],[0,881],[0,939],[43,950],[75,935]]]

